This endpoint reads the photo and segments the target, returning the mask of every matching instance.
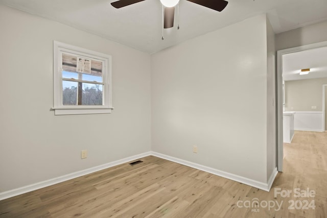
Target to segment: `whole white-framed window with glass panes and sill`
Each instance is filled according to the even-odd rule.
[[[110,113],[111,56],[54,41],[55,115]]]

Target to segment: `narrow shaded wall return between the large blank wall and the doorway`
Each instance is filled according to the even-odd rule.
[[[276,167],[275,33],[267,18],[267,180]]]

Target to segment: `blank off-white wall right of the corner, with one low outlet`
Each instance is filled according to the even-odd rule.
[[[267,101],[265,15],[153,54],[152,150],[266,183]]]

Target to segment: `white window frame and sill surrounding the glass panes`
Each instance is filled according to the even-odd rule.
[[[83,49],[82,47],[54,41],[54,107],[55,115],[111,113],[111,56]],[[103,79],[103,105],[63,105],[62,96],[62,53],[101,61]]]

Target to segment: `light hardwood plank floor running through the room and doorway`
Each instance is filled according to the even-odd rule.
[[[327,217],[327,132],[296,131],[284,153],[270,192],[149,156],[0,201],[0,217]],[[277,188],[292,193],[274,196]],[[289,209],[306,200],[315,209]],[[281,208],[266,207],[273,202]]]

